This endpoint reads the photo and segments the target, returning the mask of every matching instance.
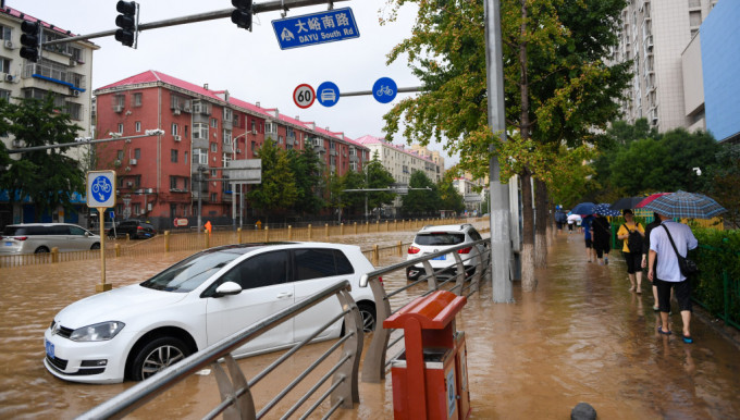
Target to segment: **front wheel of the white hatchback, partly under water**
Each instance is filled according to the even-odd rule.
[[[187,345],[177,338],[155,338],[138,350],[130,376],[134,381],[143,381],[189,355]]]

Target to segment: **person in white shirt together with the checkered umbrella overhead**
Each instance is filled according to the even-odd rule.
[[[670,312],[670,291],[674,291],[681,312],[683,343],[694,342],[691,335],[691,283],[687,273],[681,271],[679,260],[686,259],[690,249],[699,246],[699,240],[691,227],[674,222],[673,218],[712,219],[725,210],[717,201],[701,194],[676,192],[655,198],[644,206],[653,210],[661,219],[661,226],[650,234],[650,254],[648,256],[648,279],[657,287],[661,326],[657,332],[670,334],[668,313]]]

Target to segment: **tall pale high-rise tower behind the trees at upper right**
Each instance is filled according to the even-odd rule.
[[[706,127],[704,109],[687,110],[681,54],[717,0],[630,0],[621,12],[614,62],[633,60],[624,120],[645,118],[661,133]]]

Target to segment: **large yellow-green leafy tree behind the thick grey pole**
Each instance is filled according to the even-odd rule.
[[[522,287],[534,288],[531,168],[559,150],[600,139],[593,128],[605,128],[618,112],[631,63],[608,66],[603,60],[617,45],[624,0],[504,0],[502,32],[507,125],[521,138],[521,149],[503,153],[504,145],[488,126],[483,2],[391,0],[395,7],[419,7],[410,38],[388,54],[408,55],[409,66],[424,92],[399,101],[385,115],[386,138],[398,132],[422,145],[445,143],[459,152],[460,165],[473,176],[488,173],[492,151],[502,166],[509,157],[519,162],[523,197]],[[493,147],[492,147],[493,146]],[[547,168],[547,165],[540,165]],[[510,172],[508,172],[510,173]],[[505,171],[504,182],[508,180]],[[542,206],[540,206],[543,209]],[[543,209],[544,210],[544,209]]]

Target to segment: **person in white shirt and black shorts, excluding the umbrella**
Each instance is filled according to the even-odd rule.
[[[689,249],[694,249],[699,240],[691,232],[691,227],[683,223],[674,222],[664,214],[661,226],[653,228],[650,234],[650,255],[648,257],[648,279],[657,287],[658,307],[661,309],[661,326],[657,332],[670,334],[668,312],[670,312],[670,291],[674,289],[683,322],[683,342],[693,343],[691,337],[691,284],[681,273],[676,252],[686,257]],[[670,244],[673,238],[676,249]]]

